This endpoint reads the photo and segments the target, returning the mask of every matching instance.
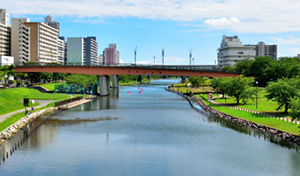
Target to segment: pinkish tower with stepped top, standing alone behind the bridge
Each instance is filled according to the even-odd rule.
[[[109,44],[108,48],[104,49],[104,62],[105,65],[117,65],[120,62],[119,51],[117,50],[117,44]]]

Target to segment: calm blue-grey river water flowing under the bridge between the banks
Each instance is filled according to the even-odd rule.
[[[0,175],[300,175],[295,150],[209,120],[164,90],[172,82],[53,114],[1,160]],[[0,159],[22,136],[0,146]]]

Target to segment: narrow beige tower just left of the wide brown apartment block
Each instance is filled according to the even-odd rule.
[[[30,22],[28,18],[11,19],[11,55],[15,64],[30,61],[30,28],[25,26],[25,22]]]

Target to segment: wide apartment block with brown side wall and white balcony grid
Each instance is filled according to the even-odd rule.
[[[41,22],[25,22],[30,27],[30,61],[58,62],[58,30]]]

